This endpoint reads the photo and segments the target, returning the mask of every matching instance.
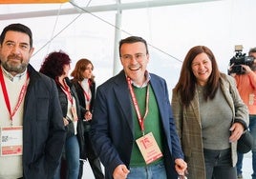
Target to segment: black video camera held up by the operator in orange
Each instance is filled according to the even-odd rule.
[[[230,59],[229,65],[231,66],[233,64],[233,66],[229,70],[229,73],[244,74],[245,69],[241,65],[252,67],[254,58],[252,56],[245,56],[245,53],[242,53],[242,51],[242,45],[235,46],[236,54]]]

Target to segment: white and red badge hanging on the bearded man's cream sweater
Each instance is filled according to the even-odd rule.
[[[1,127],[1,156],[22,155],[22,126]]]

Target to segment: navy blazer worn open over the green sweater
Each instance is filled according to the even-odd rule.
[[[177,178],[174,160],[183,158],[164,79],[150,74],[150,85],[157,98],[163,129],[163,156],[169,179]],[[129,169],[134,138],[132,101],[125,73],[109,79],[96,89],[91,135],[99,158],[105,167],[106,179],[124,164]]]

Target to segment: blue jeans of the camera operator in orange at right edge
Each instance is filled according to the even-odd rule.
[[[252,170],[251,174],[252,179],[256,179],[256,115],[249,115],[249,130],[253,137],[253,147],[252,147]],[[237,161],[237,173],[242,174],[243,168],[243,153],[238,153],[238,161]]]

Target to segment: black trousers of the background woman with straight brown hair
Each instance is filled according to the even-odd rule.
[[[101,169],[100,160],[96,153],[96,149],[94,148],[92,141],[89,136],[89,132],[84,132],[84,140],[85,140],[85,150],[87,155],[87,160],[89,161],[90,167],[93,170],[96,179],[104,179],[104,174]],[[78,179],[82,178],[83,175],[83,165],[84,161],[80,161],[80,169]]]

